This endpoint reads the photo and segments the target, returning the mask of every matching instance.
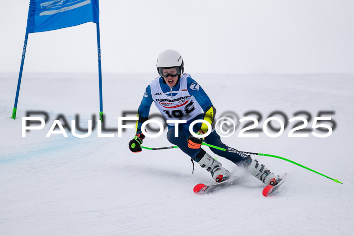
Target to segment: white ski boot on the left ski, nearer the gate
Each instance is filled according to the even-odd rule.
[[[225,169],[221,163],[213,159],[203,149],[200,149],[195,158],[195,161],[202,168],[206,168],[207,171],[210,171],[212,179],[214,179],[216,182],[222,182],[231,176],[230,172]]]

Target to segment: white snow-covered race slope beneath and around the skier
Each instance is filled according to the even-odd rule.
[[[179,149],[131,153],[134,130],[118,138],[68,138],[52,134],[63,114],[80,115],[87,126],[99,113],[97,74],[24,73],[17,119],[11,120],[17,73],[0,74],[0,235],[352,235],[354,226],[353,74],[192,74],[220,115],[240,117],[250,110],[263,117],[275,110],[288,119],[306,110],[335,111],[337,124],[328,138],[223,138],[243,151],[283,156],[343,184],[267,156],[253,156],[286,182],[267,198],[262,183],[230,161],[218,157],[239,177],[237,186],[196,195],[195,184],[212,183],[210,174]],[[137,110],[153,74],[104,74],[106,128],[117,128],[122,111]],[[42,130],[22,138],[26,111],[46,111]],[[154,107],[152,113],[156,113]],[[134,116],[134,115],[131,115]],[[312,120],[308,121],[311,127]],[[275,124],[275,123],[274,123]],[[243,124],[242,124],[243,125]],[[170,146],[165,133],[146,138],[145,146]],[[203,147],[209,153],[208,148]]]

